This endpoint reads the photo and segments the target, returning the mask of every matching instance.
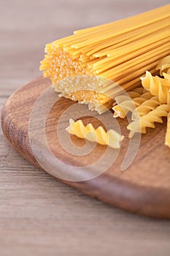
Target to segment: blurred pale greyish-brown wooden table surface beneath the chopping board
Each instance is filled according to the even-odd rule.
[[[38,76],[46,42],[162,1],[6,0],[0,15],[0,108]],[[170,222],[107,206],[30,165],[0,129],[0,255],[170,254]]]

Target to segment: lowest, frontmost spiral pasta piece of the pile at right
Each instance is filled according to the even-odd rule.
[[[163,123],[162,117],[168,116],[170,111],[170,105],[160,105],[155,110],[150,111],[147,115],[140,117],[136,121],[128,124],[127,129],[131,132],[129,134],[129,138],[132,138],[136,132],[145,133],[145,128],[155,128],[155,122]]]

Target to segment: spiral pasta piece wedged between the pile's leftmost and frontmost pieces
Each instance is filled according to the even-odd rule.
[[[154,110],[159,105],[161,105],[161,103],[158,100],[158,96],[153,96],[152,98],[147,99],[141,105],[139,105],[139,107],[135,108],[131,115],[132,120],[138,119],[139,116],[147,115],[147,113]]]

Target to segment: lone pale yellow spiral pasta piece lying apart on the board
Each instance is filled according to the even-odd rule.
[[[87,140],[97,142],[101,145],[107,145],[111,148],[120,148],[120,141],[124,138],[124,136],[115,132],[113,129],[105,132],[101,126],[95,129],[93,124],[85,126],[81,120],[74,121],[72,118],[69,119],[69,127],[66,128],[66,131],[79,138],[86,138]]]

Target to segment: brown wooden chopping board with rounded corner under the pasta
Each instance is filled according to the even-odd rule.
[[[129,139],[125,127],[128,123],[127,120],[119,118],[118,126],[125,135],[120,151],[107,149],[106,146],[95,146],[94,143],[86,145],[87,148],[93,145],[94,148],[90,152],[83,151],[85,140],[74,135],[70,137],[65,130],[69,125],[69,118],[76,119],[77,113],[80,114],[82,111],[83,122],[87,124],[91,121],[94,127],[98,127],[101,124],[98,114],[90,116],[89,111],[83,116],[86,106],[79,107],[71,100],[61,98],[47,112],[44,124],[42,113],[46,111],[46,103],[43,104],[41,101],[42,108],[38,109],[35,116],[32,113],[37,99],[49,90],[49,86],[48,78],[36,78],[12,94],[4,105],[1,113],[2,129],[15,150],[36,167],[46,170],[55,178],[91,197],[136,214],[170,219],[170,150],[164,146],[166,118],[163,119],[163,124],[156,124],[155,129],[147,129],[147,134],[142,135],[139,149],[139,138],[134,140],[136,148],[134,146],[134,151],[132,148],[131,154],[127,154]],[[57,94],[53,92],[54,95]],[[106,125],[112,124],[109,121],[110,115],[110,111],[101,115],[107,120]],[[33,120],[33,117],[36,117],[36,120]],[[34,129],[30,128],[31,122],[34,123]],[[44,125],[45,127],[42,127]],[[49,151],[45,151],[41,141],[42,129],[45,131],[45,143],[50,149],[50,157]],[[76,152],[80,152],[80,155],[72,154],[72,146],[61,146],[62,141],[58,139],[58,135],[60,138],[66,138],[64,143],[71,138],[72,146],[75,146]],[[106,154],[107,158],[102,159]],[[53,159],[57,159],[58,162]],[[98,159],[101,161],[93,168],[93,163],[98,162]],[[109,159],[112,161],[109,162]],[[92,167],[89,168],[89,165]]]

